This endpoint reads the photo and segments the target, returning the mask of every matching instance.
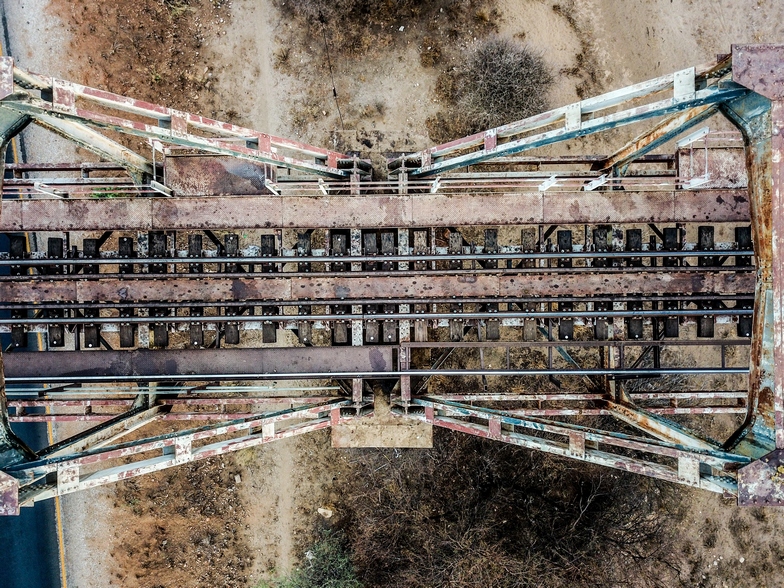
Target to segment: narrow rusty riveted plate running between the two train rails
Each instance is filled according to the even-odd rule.
[[[635,294],[748,294],[753,273],[596,272],[534,275],[299,277],[169,277],[161,280],[41,280],[0,282],[0,300],[8,303],[69,300],[172,303],[313,300],[340,304],[354,299],[433,299],[450,297],[601,296]],[[280,276],[281,274],[277,274]],[[285,275],[285,274],[283,274]],[[383,315],[379,315],[383,318]],[[291,320],[296,317],[292,316]],[[204,318],[205,322],[209,317]],[[259,320],[264,320],[259,317]]]

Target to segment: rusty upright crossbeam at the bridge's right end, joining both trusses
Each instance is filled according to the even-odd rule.
[[[725,446],[761,458],[784,445],[784,411],[781,410],[784,393],[781,389],[784,383],[781,128],[784,121],[780,107],[784,98],[780,73],[784,46],[734,45],[732,51],[733,81],[753,90],[745,98],[722,105],[722,113],[739,128],[746,148],[757,283],[748,410],[743,424]]]

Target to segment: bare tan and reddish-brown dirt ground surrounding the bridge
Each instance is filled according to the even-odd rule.
[[[324,146],[375,158],[422,148],[426,120],[442,106],[433,97],[439,69],[421,64],[422,30],[406,23],[390,23],[392,41],[361,56],[331,56],[339,114],[322,40],[303,46],[270,0],[9,4],[22,65]],[[497,34],[523,40],[557,74],[553,106],[711,60],[731,43],[781,41],[784,22],[777,0],[498,0],[495,9]],[[461,30],[454,58],[476,40]],[[40,143],[31,150],[44,160],[84,156]],[[273,578],[296,564],[316,509],[336,502],[345,464],[322,432],[68,496],[68,583],[253,586]],[[684,585],[777,585],[784,512],[683,494]]]

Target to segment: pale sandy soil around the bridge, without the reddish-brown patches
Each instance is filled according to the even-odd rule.
[[[90,79],[90,45],[78,39],[76,49],[68,49],[73,41],[69,27],[47,12],[46,0],[5,4],[18,43],[12,50],[20,64]],[[586,91],[609,90],[710,60],[729,51],[731,43],[780,41],[784,22],[784,4],[775,0],[564,0],[555,6],[545,0],[498,2],[499,34],[524,40],[560,72],[550,96],[553,105],[572,102]],[[203,112],[230,115],[266,132],[361,148],[376,156],[429,143],[425,120],[439,108],[432,98],[438,70],[419,65],[421,48],[415,38],[402,32],[400,41],[383,52],[333,60],[341,124],[318,47],[294,49],[290,65],[276,69],[278,51],[291,44],[288,23],[266,1],[234,0],[229,10],[230,26],[218,23],[225,26],[213,29],[195,70],[201,72],[208,63],[216,73],[208,89],[189,98],[192,104],[203,104]],[[28,151],[36,159],[82,156],[48,136],[27,137]],[[594,147],[607,148],[599,141]],[[236,522],[240,542],[252,556],[252,581],[293,565],[318,516],[315,509],[334,500],[333,482],[343,475],[335,464],[341,463],[323,433],[237,456],[241,481],[236,482],[238,499],[231,505],[243,509]],[[226,464],[235,467],[231,460]],[[127,568],[133,558],[109,554],[128,545],[142,515],[134,512],[133,500],[115,508],[122,492],[109,487],[63,501],[71,586],[105,586],[110,580],[125,584],[122,574],[128,570],[120,566]],[[774,530],[784,523],[784,512],[742,510],[717,496],[685,492],[682,532],[689,585],[765,584],[756,578],[781,565]],[[161,525],[167,525],[164,513],[161,508],[155,514]],[[163,575],[158,582],[175,585]],[[134,585],[144,584],[138,580]]]

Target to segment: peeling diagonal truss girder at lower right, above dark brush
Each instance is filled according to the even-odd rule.
[[[424,408],[424,414],[409,411],[405,413],[407,418],[424,420],[437,427],[718,493],[736,494],[734,472],[751,462],[746,456],[717,449],[536,417],[520,418],[500,410],[429,397],[414,398],[411,406]],[[630,457],[628,452],[646,454],[649,458]]]

